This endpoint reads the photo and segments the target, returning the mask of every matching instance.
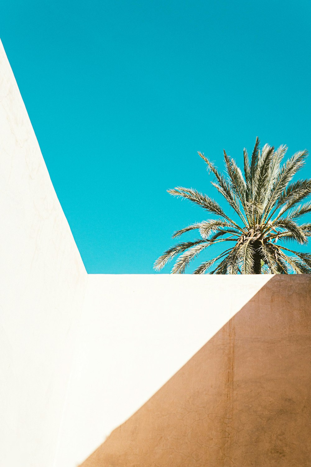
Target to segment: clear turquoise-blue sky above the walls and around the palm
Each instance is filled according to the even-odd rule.
[[[17,1],[1,40],[89,273],[152,273],[219,199],[200,150],[311,149],[309,1]],[[311,158],[301,176],[310,176]],[[170,267],[163,270],[168,273]]]

